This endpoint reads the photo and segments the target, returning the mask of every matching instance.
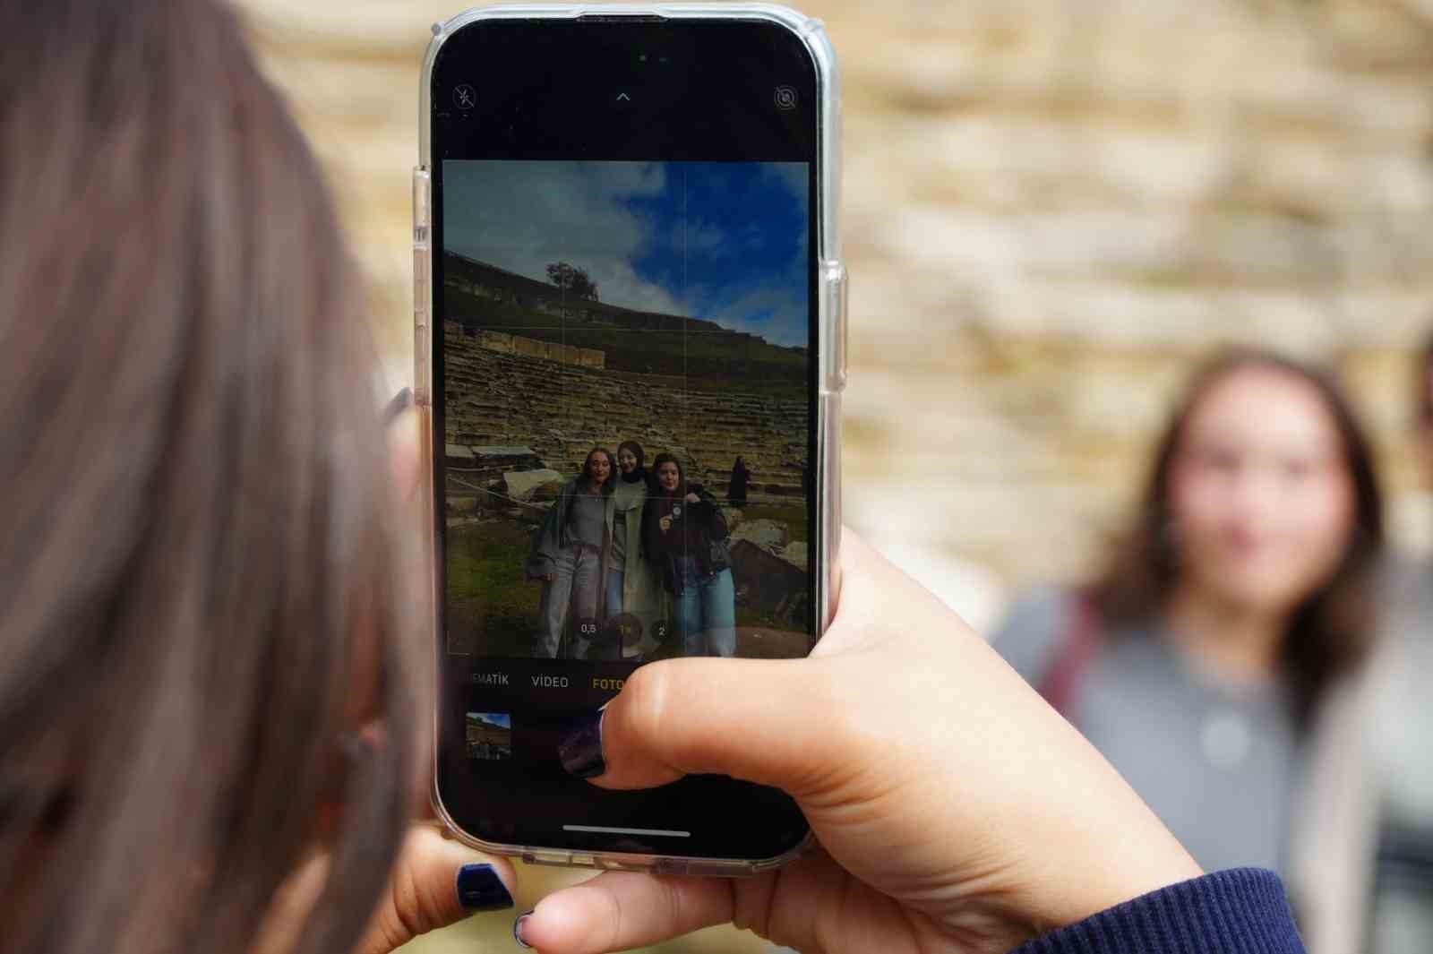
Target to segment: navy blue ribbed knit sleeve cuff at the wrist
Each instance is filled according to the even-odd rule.
[[[1235,868],[1161,888],[1012,954],[1304,954],[1273,871]]]

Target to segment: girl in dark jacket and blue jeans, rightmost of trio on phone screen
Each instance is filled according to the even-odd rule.
[[[672,454],[652,464],[656,487],[642,514],[642,544],[672,594],[684,656],[737,655],[737,590],[721,506],[688,484]]]

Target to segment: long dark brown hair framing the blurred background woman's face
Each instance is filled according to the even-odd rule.
[[[1138,627],[1162,612],[1178,579],[1176,544],[1169,533],[1174,458],[1204,397],[1231,374],[1248,368],[1285,374],[1317,391],[1338,431],[1354,487],[1354,533],[1348,549],[1333,577],[1295,609],[1280,650],[1294,692],[1295,715],[1304,722],[1330,683],[1367,653],[1373,637],[1373,574],[1383,547],[1383,503],[1373,450],[1331,374],[1254,348],[1224,351],[1201,365],[1159,440],[1135,526],[1115,549],[1092,596],[1103,619],[1113,625]]]

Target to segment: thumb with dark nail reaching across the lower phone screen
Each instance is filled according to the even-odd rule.
[[[573,775],[653,788],[721,774],[800,799],[831,781],[845,745],[838,680],[821,659],[669,659],[636,670],[559,746]],[[848,745],[845,745],[848,749]]]

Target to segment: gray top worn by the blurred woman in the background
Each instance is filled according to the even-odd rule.
[[[1036,689],[1073,604],[1040,590],[992,640]],[[1205,871],[1284,867],[1298,738],[1287,689],[1231,683],[1159,629],[1105,633],[1066,713]]]

